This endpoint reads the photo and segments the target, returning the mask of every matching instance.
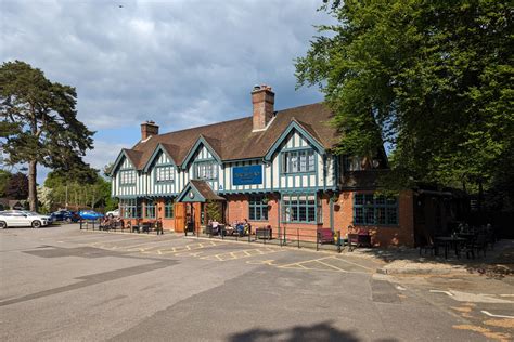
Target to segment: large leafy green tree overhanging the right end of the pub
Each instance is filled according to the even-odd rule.
[[[319,27],[296,75],[336,113],[339,153],[385,141],[399,186],[480,186],[500,168],[512,180],[511,1],[324,2],[335,24]]]

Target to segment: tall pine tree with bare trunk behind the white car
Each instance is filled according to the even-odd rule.
[[[0,118],[10,163],[28,163],[30,210],[37,210],[37,165],[69,170],[92,148],[93,132],[77,119],[75,88],[51,82],[24,62],[0,68]]]

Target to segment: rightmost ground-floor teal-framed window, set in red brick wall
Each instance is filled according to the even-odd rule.
[[[373,194],[356,194],[354,224],[398,225],[398,199]]]

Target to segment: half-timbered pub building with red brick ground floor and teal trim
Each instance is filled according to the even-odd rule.
[[[121,216],[202,232],[207,202],[217,202],[223,223],[247,219],[273,236],[323,227],[369,232],[374,246],[414,245],[413,193],[374,195],[387,171],[384,149],[371,158],[333,154],[339,133],[321,103],[275,111],[271,88],[257,86],[252,105],[250,116],[176,132],[142,123],[141,140],[121,149],[111,174]]]

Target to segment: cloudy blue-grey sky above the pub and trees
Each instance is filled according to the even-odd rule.
[[[0,0],[0,56],[76,88],[78,119],[97,132],[85,160],[101,169],[145,120],[169,132],[250,116],[255,84],[273,88],[279,110],[322,101],[294,75],[313,25],[331,22],[321,4]]]

